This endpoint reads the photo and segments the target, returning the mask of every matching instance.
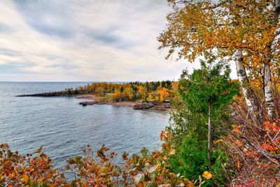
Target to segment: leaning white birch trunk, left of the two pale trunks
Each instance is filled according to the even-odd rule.
[[[242,64],[242,62],[243,62],[243,54],[241,50],[238,50],[235,58],[235,63],[237,66],[237,77],[241,84],[242,92],[244,94],[245,101],[248,106],[248,112],[250,113],[252,118],[255,118],[254,92],[251,88],[251,85],[249,84],[248,77],[246,74],[246,69]]]

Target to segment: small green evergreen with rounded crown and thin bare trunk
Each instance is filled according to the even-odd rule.
[[[179,83],[179,93],[186,102],[191,113],[208,115],[208,151],[211,159],[211,113],[232,102],[238,93],[238,85],[230,80],[230,67],[225,62],[215,63],[215,58],[200,61],[202,69],[196,69],[193,74],[183,71]]]

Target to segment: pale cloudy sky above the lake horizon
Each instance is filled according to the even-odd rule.
[[[177,80],[165,60],[165,0],[1,0],[0,81]]]

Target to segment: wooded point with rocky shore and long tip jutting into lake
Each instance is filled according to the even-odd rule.
[[[82,106],[110,104],[131,106],[133,109],[169,109],[178,88],[176,81],[92,83],[62,91],[17,95],[17,97],[77,97],[89,99]]]

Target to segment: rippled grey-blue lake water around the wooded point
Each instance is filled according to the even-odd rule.
[[[127,106],[80,106],[74,97],[15,97],[76,88],[87,83],[1,83],[0,143],[20,153],[43,146],[56,167],[90,144],[106,144],[121,157],[123,151],[139,153],[141,147],[160,148],[159,135],[168,124],[168,111],[135,111]]]

